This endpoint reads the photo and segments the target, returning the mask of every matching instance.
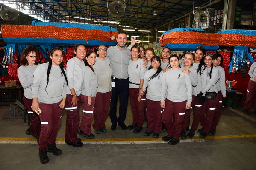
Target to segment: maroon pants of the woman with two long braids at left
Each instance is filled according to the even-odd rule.
[[[62,116],[62,109],[59,108],[59,104],[60,102],[53,104],[39,103],[39,108],[42,110],[39,114],[41,121],[39,149],[44,149],[47,144],[53,144],[56,141]]]

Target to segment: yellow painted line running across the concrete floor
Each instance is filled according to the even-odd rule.
[[[205,139],[230,139],[230,138],[247,138],[256,137],[256,134],[247,135],[224,135],[224,136],[207,136]],[[201,137],[193,137],[188,139],[203,139]],[[105,139],[82,139],[82,141],[93,141],[93,142],[110,142],[110,141],[161,141],[161,138],[105,138]],[[6,138],[0,137],[0,141],[36,141],[35,138]],[[64,141],[63,138],[57,138],[56,141]]]

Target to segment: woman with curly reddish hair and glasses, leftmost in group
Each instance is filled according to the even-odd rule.
[[[40,134],[40,119],[36,113],[31,109],[32,105],[32,82],[33,73],[35,69],[40,65],[36,62],[37,49],[33,46],[28,46],[24,49],[21,58],[21,66],[19,67],[18,77],[24,90],[23,102],[26,107],[27,113],[30,119],[30,126],[26,130],[27,135],[32,135],[39,140]]]

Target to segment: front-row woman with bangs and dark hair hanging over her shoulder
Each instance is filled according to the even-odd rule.
[[[143,135],[150,136],[153,133],[153,138],[158,138],[162,129],[162,108],[160,107],[161,88],[159,87],[162,86],[163,72],[160,65],[160,58],[152,57],[150,68],[145,72],[143,82],[143,91],[147,87],[147,130]],[[141,96],[138,96],[138,101],[141,101]]]

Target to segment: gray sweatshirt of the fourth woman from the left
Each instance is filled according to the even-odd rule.
[[[82,95],[95,97],[97,94],[97,76],[89,66],[85,66],[84,81],[82,85]]]

